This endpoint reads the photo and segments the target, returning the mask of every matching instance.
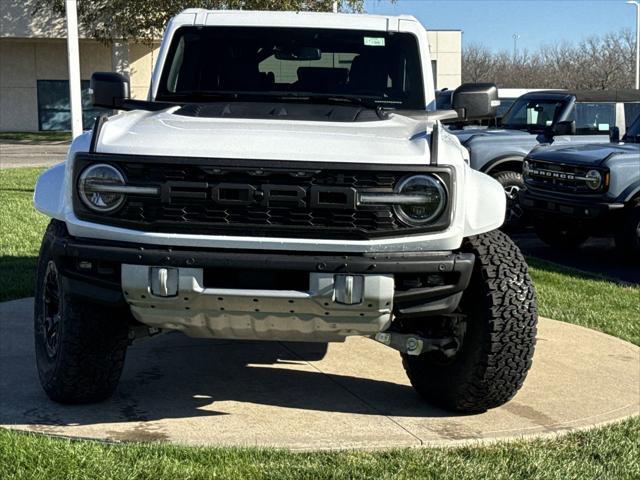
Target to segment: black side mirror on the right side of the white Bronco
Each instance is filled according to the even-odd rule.
[[[451,106],[462,120],[495,118],[499,105],[494,83],[465,83],[454,90],[451,98]]]

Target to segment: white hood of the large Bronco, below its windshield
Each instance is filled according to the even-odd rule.
[[[96,151],[133,155],[429,163],[427,125],[401,115],[373,122],[195,118],[136,110],[104,123]]]

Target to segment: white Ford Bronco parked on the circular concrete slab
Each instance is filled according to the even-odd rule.
[[[497,230],[500,184],[441,127],[456,112],[435,110],[416,19],[186,10],[147,100],[115,73],[91,88],[118,113],[35,192],[52,219],[34,313],[51,399],[107,398],[127,346],[166,330],[316,354],[371,337],[456,411],[520,388],[533,286]],[[482,91],[464,101],[467,118],[494,108]]]

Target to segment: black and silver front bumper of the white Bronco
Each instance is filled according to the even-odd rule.
[[[394,319],[451,313],[475,261],[454,252],[336,256],[70,236],[56,240],[54,255],[70,293],[128,305],[148,326],[293,341],[341,341],[383,331]],[[158,275],[166,282],[160,290]]]

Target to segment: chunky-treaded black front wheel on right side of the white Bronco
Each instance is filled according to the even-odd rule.
[[[471,237],[463,249],[476,254],[471,283],[459,313],[465,332],[456,355],[403,354],[414,388],[429,402],[458,412],[482,412],[511,399],[531,367],[536,299],[518,247],[500,231]]]

